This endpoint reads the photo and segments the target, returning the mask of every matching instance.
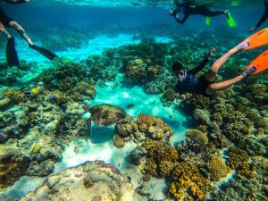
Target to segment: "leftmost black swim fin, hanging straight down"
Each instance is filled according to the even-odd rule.
[[[9,66],[20,66],[20,60],[15,48],[15,38],[8,38],[5,46],[5,57]]]

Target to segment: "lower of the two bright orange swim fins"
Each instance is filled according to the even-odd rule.
[[[252,63],[250,63],[247,66],[247,69],[254,66],[256,68],[256,71],[252,74],[254,75],[254,74],[260,73],[268,69],[267,61],[268,61],[268,50],[265,50],[263,54],[260,54],[258,57],[255,58],[255,60]]]

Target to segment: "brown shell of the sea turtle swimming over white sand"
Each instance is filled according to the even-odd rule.
[[[95,105],[90,108],[91,120],[100,126],[113,125],[128,114],[121,107],[114,105]]]

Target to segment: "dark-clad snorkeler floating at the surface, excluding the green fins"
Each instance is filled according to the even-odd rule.
[[[174,11],[170,11],[170,14],[180,24],[184,24],[185,21],[187,21],[188,17],[192,14],[200,14],[206,17],[214,17],[217,15],[225,14],[227,18],[230,17],[230,13],[228,11],[211,11],[205,5],[194,5],[190,4],[188,1],[184,1],[183,3],[177,3],[176,7],[177,8]],[[184,14],[182,20],[179,19],[178,13]]]

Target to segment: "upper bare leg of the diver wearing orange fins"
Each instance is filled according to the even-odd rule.
[[[228,61],[232,54],[236,54],[238,51],[238,48],[234,47],[230,49],[228,53],[222,55],[221,58],[214,62],[210,70],[205,73],[205,79],[209,81],[214,81],[216,78],[216,74],[218,73],[222,65]]]

